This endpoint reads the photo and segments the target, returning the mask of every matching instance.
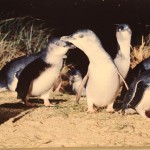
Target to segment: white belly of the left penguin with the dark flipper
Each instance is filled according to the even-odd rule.
[[[39,96],[47,92],[59,76],[60,69],[49,68],[33,81],[30,95]]]

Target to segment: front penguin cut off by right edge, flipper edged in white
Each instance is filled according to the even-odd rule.
[[[141,116],[148,118],[146,111],[150,110],[150,69],[141,73],[130,85],[125,94],[122,113],[128,108],[135,109]]]

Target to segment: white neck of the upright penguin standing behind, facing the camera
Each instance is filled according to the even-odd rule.
[[[119,42],[119,52],[118,54],[125,57],[126,59],[130,59],[130,41]]]

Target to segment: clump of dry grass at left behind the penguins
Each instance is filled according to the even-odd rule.
[[[53,29],[31,17],[0,20],[0,68],[6,62],[45,48]]]

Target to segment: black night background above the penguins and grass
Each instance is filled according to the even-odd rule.
[[[25,15],[43,19],[56,29],[57,36],[89,28],[113,58],[117,52],[116,24],[130,25],[132,45],[140,44],[141,36],[150,32],[150,0],[0,0],[0,13],[1,18]],[[68,61],[88,64],[80,51],[72,54]]]

